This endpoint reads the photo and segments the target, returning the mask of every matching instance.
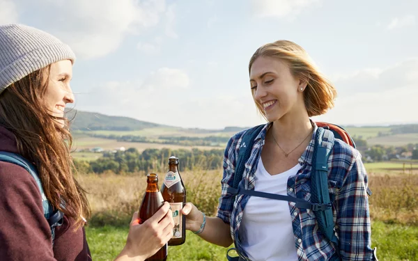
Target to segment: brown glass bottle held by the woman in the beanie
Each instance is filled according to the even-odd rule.
[[[144,223],[164,204],[164,199],[158,189],[158,175],[150,173],[146,176],[146,192],[139,207],[139,223]],[[145,261],[166,261],[167,244],[165,244],[155,255]]]

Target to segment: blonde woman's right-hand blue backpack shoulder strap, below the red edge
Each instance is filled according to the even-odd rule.
[[[334,146],[334,134],[328,130],[318,127],[312,157],[311,171],[311,201],[317,204],[331,204],[330,193],[328,193],[328,158]],[[316,221],[320,231],[327,239],[339,246],[339,240],[334,233],[334,219],[332,208],[323,211],[315,211]]]

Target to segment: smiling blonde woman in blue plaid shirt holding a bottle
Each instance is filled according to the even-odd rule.
[[[256,128],[229,140],[217,216],[206,217],[187,203],[183,208],[187,229],[213,244],[234,243],[240,255],[236,260],[373,260],[361,155],[339,139],[332,142],[330,136],[318,142],[322,131],[311,120],[334,106],[332,83],[302,47],[279,40],[258,48],[251,57],[249,85],[258,111],[268,122],[253,134],[253,145],[243,139]],[[310,203],[313,198],[315,143],[331,142],[324,168],[328,168],[325,193],[332,198],[329,209],[335,224],[332,240],[319,228],[315,208],[297,203]],[[249,156],[239,173],[241,150]],[[242,193],[233,195],[236,175]],[[293,202],[250,196],[254,191],[293,198]]]

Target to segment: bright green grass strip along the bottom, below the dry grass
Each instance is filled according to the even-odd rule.
[[[93,260],[114,260],[125,245],[127,231],[127,227],[87,227],[86,236]],[[380,261],[418,260],[418,227],[388,225],[376,221],[372,224],[372,237],[372,245],[378,248]],[[227,249],[205,242],[187,231],[185,244],[169,246],[167,260],[224,261]]]

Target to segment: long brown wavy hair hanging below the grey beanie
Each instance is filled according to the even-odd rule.
[[[86,191],[72,173],[75,170],[70,148],[72,136],[66,119],[51,116],[42,97],[47,90],[50,65],[16,81],[0,95],[0,124],[16,136],[20,154],[33,162],[51,204],[84,225],[90,218]],[[65,120],[65,127],[57,120]],[[61,200],[65,207],[61,207]]]

